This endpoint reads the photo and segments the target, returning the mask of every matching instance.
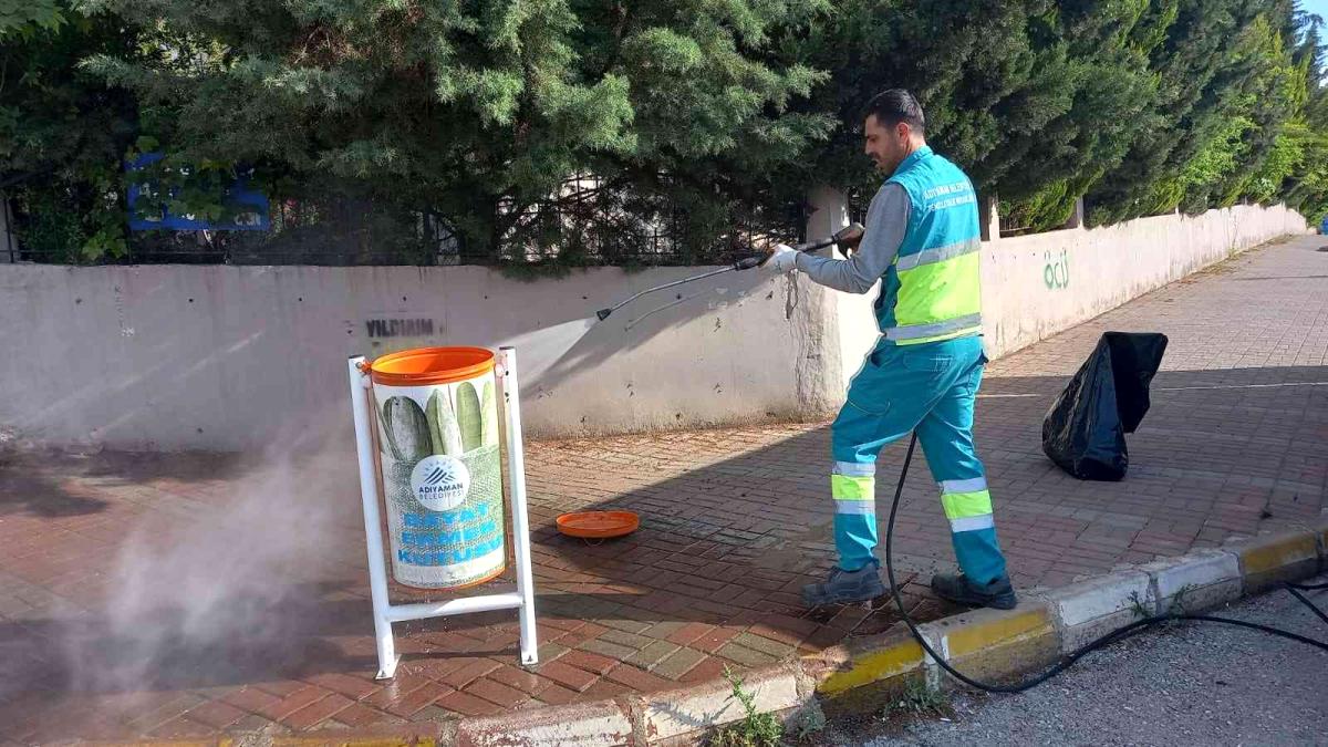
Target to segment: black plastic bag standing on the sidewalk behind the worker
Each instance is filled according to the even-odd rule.
[[[1149,384],[1162,366],[1166,335],[1106,332],[1042,419],[1042,451],[1080,480],[1125,477],[1125,435],[1149,411]]]

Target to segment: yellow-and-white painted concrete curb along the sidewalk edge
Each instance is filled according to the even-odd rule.
[[[1312,528],[1231,542],[1222,549],[1122,568],[1041,594],[1019,607],[972,610],[919,626],[928,643],[964,674],[1001,681],[1042,669],[1085,642],[1117,630],[1139,614],[1198,611],[1272,587],[1280,581],[1328,570],[1328,516]],[[847,641],[781,666],[748,671],[744,689],[762,712],[786,720],[806,711],[829,714],[876,708],[910,679],[943,677],[900,623],[891,631]],[[456,728],[413,728],[393,735],[359,732],[248,736],[190,742],[222,746],[437,746],[437,747],[582,747],[696,744],[710,728],[741,720],[744,712],[724,681],[614,700],[466,718]],[[421,724],[422,726],[422,724]],[[182,744],[182,743],[175,743]]]

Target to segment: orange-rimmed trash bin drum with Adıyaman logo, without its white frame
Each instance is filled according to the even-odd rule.
[[[392,576],[459,589],[506,565],[494,354],[416,348],[369,364]]]

